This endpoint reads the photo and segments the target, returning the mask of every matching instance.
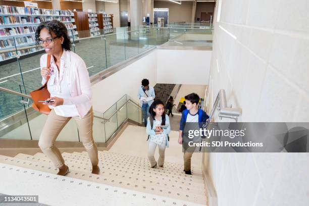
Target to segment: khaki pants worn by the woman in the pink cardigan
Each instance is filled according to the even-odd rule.
[[[72,117],[62,117],[56,115],[55,111],[50,111],[45,125],[43,127],[41,136],[39,138],[38,145],[41,150],[54,165],[59,168],[64,165],[65,161],[59,151],[55,146],[55,141],[61,132],[61,130],[66,126]],[[91,164],[96,166],[98,164],[97,147],[93,141],[92,137],[92,125],[93,125],[93,111],[92,108],[88,114],[80,119],[79,117],[73,117],[78,128],[78,133],[80,139],[86,148]]]

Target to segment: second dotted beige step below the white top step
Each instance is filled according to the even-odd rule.
[[[45,158],[37,158],[37,157],[33,157],[30,155],[24,155],[22,153],[18,154],[17,156],[15,156],[15,158],[21,159],[21,160],[27,160],[27,161],[32,161],[35,163],[39,163],[41,165],[46,165],[48,167],[54,167],[53,163],[49,160],[49,159],[45,159]],[[80,172],[84,172],[84,173],[91,173],[91,164],[88,165],[84,165],[82,162],[78,162],[78,161],[66,161],[66,164],[69,166],[70,169],[76,170],[76,171],[80,171]],[[131,185],[132,184],[143,184],[144,186],[146,185],[157,185],[158,187],[163,187],[166,190],[172,191],[177,189],[178,191],[182,191],[183,193],[194,193],[194,194],[198,194],[198,195],[205,195],[204,193],[204,185],[200,185],[199,187],[197,187],[198,185],[196,184],[191,184],[188,185],[187,182],[182,180],[182,184],[180,180],[176,180],[176,181],[169,181],[169,184],[164,184],[161,180],[162,180],[162,176],[156,176],[153,174],[148,174],[148,176],[142,176],[141,174],[127,174],[125,172],[120,172],[120,171],[112,171],[112,170],[107,170],[107,168],[102,168],[101,165],[99,165],[101,168],[101,174],[100,176],[104,177],[104,178],[108,178],[108,179],[112,179],[112,180],[116,180],[118,182],[125,182],[128,179],[130,179],[131,181]],[[171,186],[170,186],[171,185]],[[179,185],[179,186],[178,186]]]

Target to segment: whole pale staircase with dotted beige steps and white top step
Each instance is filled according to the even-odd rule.
[[[99,175],[91,174],[87,152],[62,153],[70,168],[58,176],[43,153],[0,156],[0,193],[39,195],[49,205],[206,205],[199,168],[165,162],[152,169],[147,158],[99,151]]]

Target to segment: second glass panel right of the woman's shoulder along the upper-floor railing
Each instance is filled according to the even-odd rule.
[[[105,35],[108,68],[126,60],[123,35],[123,32]]]

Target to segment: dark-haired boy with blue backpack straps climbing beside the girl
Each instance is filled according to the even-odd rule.
[[[202,124],[207,122],[209,119],[209,116],[202,111],[201,109],[198,109],[198,102],[199,102],[199,96],[196,93],[191,93],[185,96],[186,99],[186,110],[182,112],[181,120],[180,120],[180,128],[179,128],[179,138],[178,143],[183,143],[183,130],[185,127],[186,122],[196,122],[195,126],[199,129],[202,128]],[[191,150],[190,150],[191,151]],[[183,161],[184,161],[184,171],[187,175],[191,175],[191,157],[193,152],[184,151],[183,153]]]

